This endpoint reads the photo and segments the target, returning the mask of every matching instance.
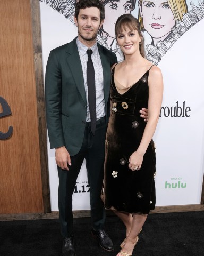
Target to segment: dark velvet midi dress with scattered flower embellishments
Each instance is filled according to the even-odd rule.
[[[155,208],[156,157],[151,140],[141,169],[129,169],[129,157],[140,145],[146,122],[140,110],[148,107],[149,70],[120,94],[111,81],[111,116],[106,135],[103,198],[107,209],[148,214]]]

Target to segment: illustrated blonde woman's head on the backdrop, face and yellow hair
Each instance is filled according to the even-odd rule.
[[[185,0],[139,0],[138,19],[142,31],[147,31],[152,38],[152,45],[167,39],[177,20],[188,13]]]

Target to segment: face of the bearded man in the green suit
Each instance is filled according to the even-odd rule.
[[[80,9],[78,19],[74,17],[78,26],[78,37],[81,43],[90,46],[95,43],[99,28],[104,21],[100,22],[100,11],[97,7]]]

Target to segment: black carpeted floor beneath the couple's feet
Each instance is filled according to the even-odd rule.
[[[123,223],[107,217],[105,230],[115,250],[101,249],[90,234],[90,218],[74,219],[77,256],[116,256],[125,236]],[[0,222],[1,256],[60,256],[58,219]],[[150,214],[133,252],[135,256],[203,256],[204,212]]]

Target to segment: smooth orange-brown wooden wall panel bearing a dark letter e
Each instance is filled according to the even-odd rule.
[[[44,212],[31,8],[29,0],[0,9],[0,95],[12,115],[0,118],[0,214]]]

